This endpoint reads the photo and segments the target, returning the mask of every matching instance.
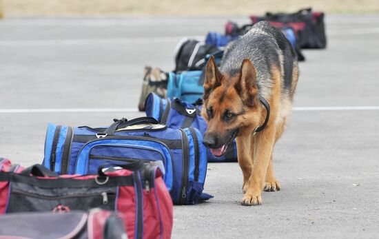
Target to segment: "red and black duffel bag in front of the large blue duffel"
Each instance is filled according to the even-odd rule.
[[[15,169],[0,158],[0,214],[99,207],[124,215],[128,238],[170,238],[172,199],[161,170],[143,161],[118,166],[57,176],[42,165]]]

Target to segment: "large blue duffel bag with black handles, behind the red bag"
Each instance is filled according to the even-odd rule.
[[[100,165],[161,160],[175,204],[196,204],[207,172],[207,151],[198,129],[170,129],[154,118],[114,120],[110,127],[49,123],[43,165],[57,174],[97,174]]]

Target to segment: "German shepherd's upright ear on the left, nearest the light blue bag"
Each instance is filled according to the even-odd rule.
[[[218,70],[214,57],[211,56],[205,67],[205,81],[204,81],[204,100],[207,100],[211,90],[221,85],[223,74]]]

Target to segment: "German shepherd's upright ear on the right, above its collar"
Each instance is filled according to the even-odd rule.
[[[236,88],[236,91],[247,107],[254,105],[254,101],[256,101],[256,96],[258,95],[256,70],[249,59],[243,60],[240,67],[240,78],[236,81],[234,88]]]

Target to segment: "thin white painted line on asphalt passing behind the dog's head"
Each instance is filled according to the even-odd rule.
[[[379,106],[322,106],[322,107],[294,107],[294,111],[353,111],[379,110]],[[0,114],[12,113],[86,113],[86,112],[139,112],[136,108],[71,108],[71,109],[3,109]]]

